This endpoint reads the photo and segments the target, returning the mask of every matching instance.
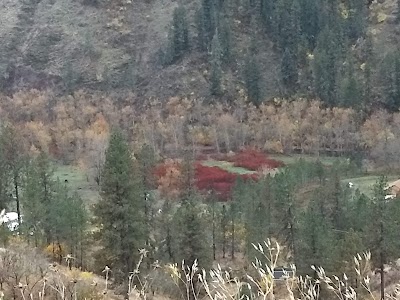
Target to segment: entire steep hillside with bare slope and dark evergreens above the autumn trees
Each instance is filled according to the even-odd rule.
[[[2,87],[398,107],[394,0],[2,4]]]

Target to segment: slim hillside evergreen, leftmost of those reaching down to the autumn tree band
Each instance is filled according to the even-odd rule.
[[[215,33],[212,43],[211,43],[211,74],[210,74],[210,92],[213,96],[219,96],[222,92],[221,90],[221,57],[222,49],[219,42],[218,31]]]

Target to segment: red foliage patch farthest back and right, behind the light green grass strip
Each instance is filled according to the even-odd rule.
[[[235,167],[242,167],[252,171],[261,169],[276,169],[284,164],[281,161],[270,159],[264,153],[254,150],[245,149],[230,158]]]

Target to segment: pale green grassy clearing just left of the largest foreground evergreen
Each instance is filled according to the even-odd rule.
[[[64,183],[72,192],[77,192],[87,205],[91,205],[99,199],[99,191],[95,183],[88,180],[86,173],[74,166],[57,165],[54,177]]]

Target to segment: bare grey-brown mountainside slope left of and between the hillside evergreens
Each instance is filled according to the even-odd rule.
[[[200,1],[185,2],[192,51],[162,66],[176,1],[6,0],[0,4],[0,71],[6,91],[21,88],[130,90],[142,97],[209,95],[207,54],[196,50],[193,15]],[[243,86],[241,52],[251,32],[234,19],[238,59],[223,70],[223,86],[233,97]],[[265,35],[257,40],[263,94],[279,85],[279,55]]]

